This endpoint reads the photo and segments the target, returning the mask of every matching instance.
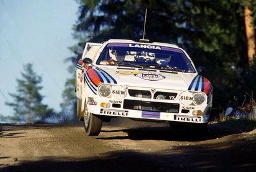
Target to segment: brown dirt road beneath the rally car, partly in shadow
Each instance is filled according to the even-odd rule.
[[[167,124],[130,122],[105,124],[99,136],[89,137],[82,124],[0,124],[0,171],[255,169],[255,130],[211,124],[207,136],[195,138]]]

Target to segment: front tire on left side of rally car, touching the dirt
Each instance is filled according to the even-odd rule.
[[[88,136],[98,136],[102,127],[102,120],[92,113],[86,111],[84,114],[84,129]]]

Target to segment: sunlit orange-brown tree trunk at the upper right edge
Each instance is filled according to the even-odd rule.
[[[247,55],[249,66],[253,65],[253,58],[255,56],[255,34],[253,17],[251,17],[251,10],[248,6],[244,7],[244,22],[246,27],[246,39],[247,39]]]

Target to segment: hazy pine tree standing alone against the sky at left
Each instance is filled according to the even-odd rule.
[[[53,114],[53,109],[49,109],[42,102],[43,96],[40,90],[42,78],[32,69],[32,64],[23,66],[24,72],[21,72],[23,79],[17,79],[17,93],[9,93],[14,102],[6,102],[14,110],[12,120],[16,122],[27,122],[30,124],[35,120],[45,119]]]

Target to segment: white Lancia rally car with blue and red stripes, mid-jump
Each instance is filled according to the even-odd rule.
[[[114,117],[207,129],[213,87],[182,48],[110,39],[86,43],[76,67],[77,115],[87,135]]]

